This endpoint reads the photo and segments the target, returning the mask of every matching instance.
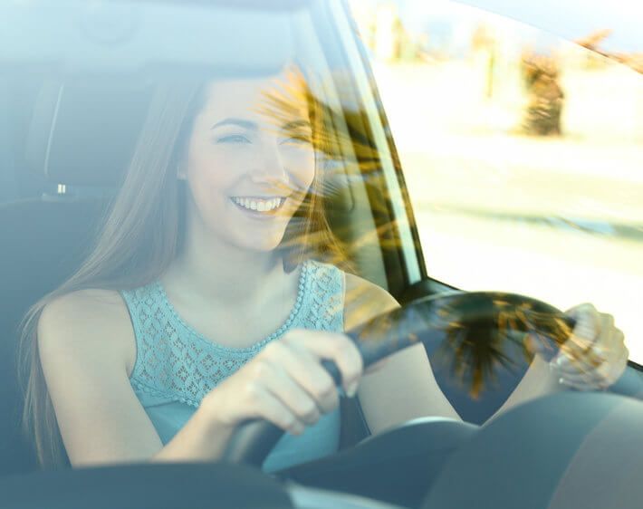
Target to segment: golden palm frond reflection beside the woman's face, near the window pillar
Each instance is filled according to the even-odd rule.
[[[336,71],[333,75],[336,82],[350,85],[350,73]],[[326,249],[327,239],[310,233],[309,240],[302,245],[309,245],[312,252],[323,254],[324,259],[338,266],[346,265],[346,256],[354,259],[360,250],[373,248],[396,251],[401,247],[397,219],[390,215],[390,197],[388,186],[382,173],[382,162],[379,149],[372,139],[367,115],[364,110],[355,109],[353,105],[341,105],[341,110],[333,109],[326,101],[312,92],[302,72],[293,71],[289,75],[291,86],[283,91],[269,91],[264,94],[264,101],[257,106],[266,118],[275,126],[282,124],[296,109],[297,104],[308,104],[312,115],[313,147],[317,152],[318,165],[322,169],[322,187],[317,192],[329,216],[343,217],[333,224],[333,232],[338,240],[350,239],[341,245],[341,251],[332,253]],[[347,152],[347,147],[350,151]],[[369,197],[369,215],[375,221],[369,225],[371,217],[360,218],[353,215],[347,220],[345,202],[355,188],[363,187]],[[305,204],[303,204],[305,206]],[[361,204],[365,206],[366,204]],[[304,213],[305,211],[301,210]],[[364,220],[364,227],[360,225]],[[374,228],[374,230],[373,230]],[[288,242],[288,241],[286,241]],[[290,242],[298,243],[296,239]],[[373,267],[374,268],[374,267]],[[369,268],[372,270],[373,268]],[[357,289],[354,292],[359,293]],[[347,295],[350,300],[359,300],[359,295]],[[368,312],[369,303],[364,303]]]

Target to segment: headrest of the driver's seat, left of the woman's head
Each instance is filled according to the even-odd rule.
[[[34,104],[27,164],[53,184],[118,186],[150,95],[143,86],[45,82]]]

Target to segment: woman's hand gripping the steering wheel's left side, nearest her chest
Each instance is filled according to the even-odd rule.
[[[341,333],[292,330],[270,342],[253,360],[206,396],[213,418],[228,430],[264,418],[293,435],[339,404],[338,389],[322,360],[333,360],[342,387],[355,395],[363,370],[360,351]]]

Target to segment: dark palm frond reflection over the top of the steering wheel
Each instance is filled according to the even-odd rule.
[[[478,399],[498,387],[508,372],[519,381],[534,355],[545,360],[587,345],[571,334],[573,321],[546,303],[506,293],[452,293],[429,297],[365,323],[352,331],[373,362],[422,342],[434,370]],[[444,380],[443,380],[444,381]]]

